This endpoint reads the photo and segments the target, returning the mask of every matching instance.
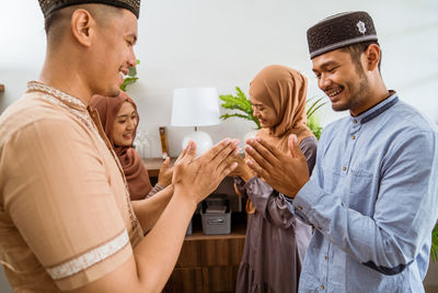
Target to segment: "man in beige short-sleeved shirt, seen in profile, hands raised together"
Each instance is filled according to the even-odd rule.
[[[132,207],[88,103],[117,95],[120,72],[135,66],[139,2],[39,0],[39,81],[0,116],[0,261],[15,292],[160,292],[197,203],[235,168],[237,142],[198,158],[191,143],[162,191],[173,192],[164,211],[148,201]]]

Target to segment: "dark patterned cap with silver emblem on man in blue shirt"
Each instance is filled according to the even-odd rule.
[[[308,30],[310,58],[357,43],[378,41],[374,23],[365,11],[326,18]]]

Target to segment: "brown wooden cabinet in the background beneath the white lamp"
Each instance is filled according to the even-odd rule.
[[[172,159],[172,162],[175,159]],[[162,159],[145,159],[152,184]],[[235,281],[243,253],[246,215],[241,199],[235,195],[232,179],[221,182],[216,190],[230,196],[231,234],[204,235],[200,214],[193,216],[193,234],[185,236],[175,268],[163,293],[226,293],[235,291]],[[232,193],[232,194],[231,194]]]

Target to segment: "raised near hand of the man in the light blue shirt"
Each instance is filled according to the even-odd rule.
[[[309,181],[308,162],[296,135],[288,138],[289,154],[281,153],[261,137],[250,138],[246,144],[246,165],[278,192],[295,198]]]

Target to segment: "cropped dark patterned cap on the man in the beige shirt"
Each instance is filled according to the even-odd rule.
[[[44,18],[47,19],[53,12],[77,4],[101,3],[131,11],[136,18],[140,15],[140,0],[38,0]]]

